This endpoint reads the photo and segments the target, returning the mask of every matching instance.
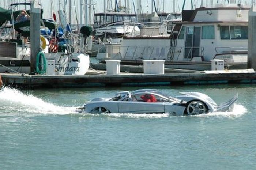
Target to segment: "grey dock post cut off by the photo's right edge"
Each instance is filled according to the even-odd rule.
[[[256,70],[256,5],[252,4],[248,18],[248,61],[247,68]]]

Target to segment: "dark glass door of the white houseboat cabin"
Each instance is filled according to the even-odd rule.
[[[184,58],[191,60],[199,56],[201,27],[187,27]]]

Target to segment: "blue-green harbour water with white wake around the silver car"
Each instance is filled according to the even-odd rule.
[[[81,114],[91,98],[138,88],[4,88],[0,169],[256,169],[255,84],[153,88],[239,98],[231,112],[199,116]]]

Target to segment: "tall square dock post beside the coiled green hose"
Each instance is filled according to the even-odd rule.
[[[36,58],[40,51],[40,6],[33,0],[30,6],[30,73],[36,70]]]

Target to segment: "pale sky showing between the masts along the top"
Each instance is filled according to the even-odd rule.
[[[1,0],[0,1],[0,7],[8,9],[9,5],[11,3],[22,3],[22,2],[28,2],[29,0]],[[69,0],[39,0],[39,3],[41,3],[42,8],[44,9],[44,14],[43,17],[44,18],[53,18],[53,12],[55,14],[57,14],[57,11],[63,10],[64,8],[64,1],[66,2],[66,11],[67,11],[67,16],[69,16],[69,11],[68,11],[68,6],[69,6]],[[85,3],[86,0],[71,0],[72,3],[72,24],[80,24],[80,14],[84,14],[84,8],[85,5],[82,5],[82,12],[80,12],[80,1],[82,1],[82,3]],[[91,0],[91,3],[94,4],[94,12],[95,13],[99,13],[99,12],[104,12],[104,10],[106,11],[107,8],[107,3],[109,1],[109,4],[111,4],[112,8],[115,8],[115,2],[116,0]],[[139,8],[139,1],[141,3],[141,7],[142,7],[142,13],[152,13],[155,12],[154,9],[154,3],[153,0],[117,0],[117,3],[119,6],[125,7],[125,4],[127,4],[129,2],[129,8],[130,8],[130,13],[134,14],[136,11],[136,14],[138,14],[138,8]],[[184,3],[184,0],[175,0],[176,1],[176,5],[175,5],[175,11],[182,11],[182,6]],[[184,10],[190,10],[190,9],[195,9],[195,8],[199,8],[200,6],[203,7],[210,7],[211,3],[212,4],[227,4],[227,3],[242,3],[243,5],[250,5],[254,0],[185,0],[184,3]],[[87,3],[89,3],[90,0],[87,0]],[[192,3],[191,3],[192,2]],[[105,3],[105,7],[104,7],[104,3]],[[133,4],[134,3],[134,4]],[[156,6],[157,6],[157,10],[158,12],[173,12],[173,0],[155,0]],[[23,5],[18,6],[18,9],[24,9],[26,7],[23,7]],[[93,17],[93,14],[92,14]],[[57,15],[57,20],[59,16]],[[84,24],[84,19],[83,19],[83,23]]]

